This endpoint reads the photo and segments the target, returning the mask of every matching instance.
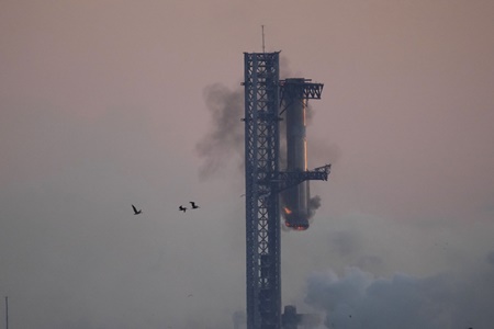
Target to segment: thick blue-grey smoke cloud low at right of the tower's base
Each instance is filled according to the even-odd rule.
[[[305,302],[326,314],[327,328],[490,328],[493,281],[492,269],[460,280],[451,273],[377,277],[349,268],[343,276],[312,274]]]

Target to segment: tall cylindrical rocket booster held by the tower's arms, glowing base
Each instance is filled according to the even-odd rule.
[[[305,79],[287,79],[284,84],[287,124],[287,171],[307,171],[305,114],[307,99],[303,97]],[[303,181],[282,193],[285,225],[296,230],[308,228],[308,181]]]

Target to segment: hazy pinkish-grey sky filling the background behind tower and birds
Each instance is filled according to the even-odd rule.
[[[283,77],[325,84],[308,161],[333,163],[311,228],[282,232],[283,305],[335,328],[491,328],[493,18],[492,0],[0,0],[11,327],[233,326],[232,145],[263,24]],[[224,109],[233,139],[204,152]]]

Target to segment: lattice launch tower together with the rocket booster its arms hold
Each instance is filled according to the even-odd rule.
[[[306,161],[306,104],[321,99],[323,84],[280,81],[279,54],[244,53],[247,329],[296,328],[296,309],[287,306],[290,314],[281,314],[281,208],[288,227],[307,229],[308,181],[327,180],[330,170],[326,164],[310,171]],[[280,123],[287,132],[285,170],[280,170]]]

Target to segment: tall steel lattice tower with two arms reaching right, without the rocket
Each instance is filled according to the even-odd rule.
[[[322,84],[280,81],[278,53],[244,53],[247,329],[281,329],[279,193],[306,180],[327,180],[330,164],[313,171],[279,169],[282,98],[321,97]]]

